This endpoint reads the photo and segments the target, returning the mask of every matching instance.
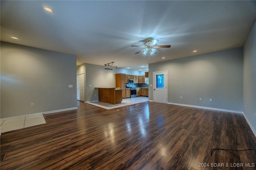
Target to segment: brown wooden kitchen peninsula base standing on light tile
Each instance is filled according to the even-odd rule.
[[[116,87],[96,87],[99,89],[99,101],[110,104],[122,102],[122,89]]]

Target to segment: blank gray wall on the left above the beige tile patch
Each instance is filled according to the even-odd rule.
[[[1,118],[76,107],[74,55],[1,42],[0,71]]]

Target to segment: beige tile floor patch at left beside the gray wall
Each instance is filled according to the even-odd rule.
[[[4,121],[1,120],[0,122],[1,133],[46,123],[42,114],[28,115]]]

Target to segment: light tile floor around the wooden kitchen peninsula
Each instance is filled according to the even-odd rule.
[[[122,99],[122,103],[119,103],[116,105],[112,105],[110,103],[104,103],[101,101],[93,101],[93,102],[86,102],[86,103],[109,110],[109,109],[115,109],[118,107],[134,105],[136,103],[142,103],[142,102],[146,102],[146,101],[148,101],[148,97],[134,97],[134,98]]]

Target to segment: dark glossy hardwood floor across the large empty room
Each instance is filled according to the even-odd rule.
[[[45,117],[44,125],[0,136],[1,170],[256,169],[254,150],[210,155],[256,149],[242,114],[153,102],[105,110],[78,101],[77,110]]]

